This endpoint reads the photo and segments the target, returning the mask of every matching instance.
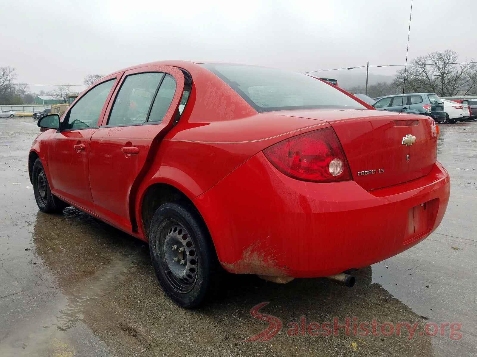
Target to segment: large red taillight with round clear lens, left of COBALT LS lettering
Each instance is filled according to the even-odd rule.
[[[263,153],[275,168],[292,178],[313,182],[352,179],[340,140],[331,127],[280,141]]]

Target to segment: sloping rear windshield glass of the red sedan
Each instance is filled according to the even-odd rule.
[[[260,112],[287,109],[366,109],[319,79],[280,69],[204,63]]]

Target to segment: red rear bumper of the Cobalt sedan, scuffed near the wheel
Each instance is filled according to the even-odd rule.
[[[440,224],[449,193],[440,163],[423,178],[368,192],[354,181],[289,178],[260,152],[194,203],[229,272],[322,277],[414,246]]]

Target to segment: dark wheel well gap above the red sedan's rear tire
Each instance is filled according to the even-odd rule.
[[[147,188],[141,206],[141,220],[147,238],[149,238],[149,228],[157,208],[165,203],[175,201],[186,201],[195,208],[192,201],[174,186],[165,183],[156,183]]]

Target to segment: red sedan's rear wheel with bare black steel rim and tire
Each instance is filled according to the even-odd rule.
[[[187,202],[165,203],[149,230],[156,276],[167,295],[182,307],[204,302],[217,278],[217,256],[202,218]]]

